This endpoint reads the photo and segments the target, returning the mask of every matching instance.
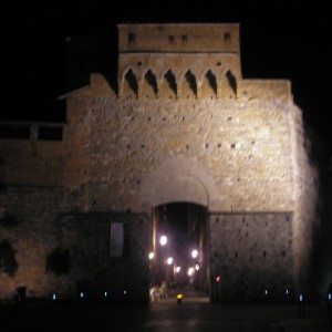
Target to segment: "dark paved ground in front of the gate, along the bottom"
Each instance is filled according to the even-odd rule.
[[[0,310],[0,332],[331,332],[326,309],[307,305],[211,304],[198,293],[148,305],[30,303]]]

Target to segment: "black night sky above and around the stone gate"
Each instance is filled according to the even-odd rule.
[[[20,4],[19,11],[13,9],[4,41],[11,103],[1,117],[61,121],[56,97],[75,87],[69,83],[73,71],[69,70],[66,37],[90,37],[89,70],[112,75],[116,73],[116,23],[237,22],[243,79],[289,79],[305,122],[332,145],[328,1],[243,2],[178,0],[151,6],[123,1],[115,7],[114,1],[51,0]],[[84,62],[80,55],[76,59]],[[76,63],[74,74],[80,65],[86,71]]]

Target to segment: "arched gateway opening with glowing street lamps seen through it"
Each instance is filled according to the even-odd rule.
[[[167,284],[168,292],[208,295],[207,207],[186,201],[158,205],[152,224],[151,287]]]

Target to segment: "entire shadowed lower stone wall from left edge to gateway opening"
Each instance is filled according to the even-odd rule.
[[[6,207],[0,242],[12,246],[18,263],[14,277],[0,274],[0,299],[12,298],[23,287],[29,298],[56,293],[59,299],[75,299],[82,291],[84,297],[102,299],[106,291],[110,300],[148,301],[152,231],[147,216],[76,215],[70,197],[68,190],[41,187],[10,187],[0,196]],[[110,255],[112,222],[127,228],[127,257]],[[58,250],[69,253],[65,273],[48,269],[48,257]]]

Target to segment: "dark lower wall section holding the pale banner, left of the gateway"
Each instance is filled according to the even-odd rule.
[[[124,225],[124,248],[112,256],[111,225]],[[81,291],[86,297],[101,299],[105,291],[111,299],[148,301],[148,251],[151,224],[144,215],[84,214],[64,215],[58,225],[61,247],[72,257],[70,282],[58,286],[66,297]]]

